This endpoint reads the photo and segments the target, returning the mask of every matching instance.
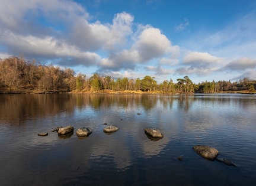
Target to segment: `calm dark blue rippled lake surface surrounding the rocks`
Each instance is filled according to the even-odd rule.
[[[255,94],[0,94],[0,182],[256,185],[255,113]],[[108,135],[104,123],[120,129]],[[75,130],[66,138],[51,131],[68,125]],[[92,134],[78,138],[84,127]],[[236,167],[202,158],[194,145]]]

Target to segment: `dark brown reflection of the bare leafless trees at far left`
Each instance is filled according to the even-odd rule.
[[[72,112],[75,104],[69,94],[1,95],[0,118],[11,123],[57,113]]]

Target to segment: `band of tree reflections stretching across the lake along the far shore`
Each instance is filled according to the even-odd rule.
[[[223,107],[226,104],[232,104],[235,107],[247,108],[255,104],[254,98],[255,96],[249,95],[233,97],[225,94],[178,94],[174,96],[151,94],[4,94],[0,96],[0,117],[12,123],[20,123],[35,117],[44,118],[62,113],[69,115],[76,108],[82,110],[87,106],[96,110],[113,106],[119,107],[119,110],[139,110],[143,107],[146,112],[149,112],[158,107],[158,104],[168,109],[167,106],[171,108],[174,103],[177,103],[180,110],[188,112],[194,103],[204,106],[210,102],[212,106]],[[249,102],[248,99],[252,102]]]

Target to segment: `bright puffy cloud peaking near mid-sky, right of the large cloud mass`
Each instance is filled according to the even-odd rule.
[[[134,69],[137,64],[145,63],[165,55],[177,56],[178,46],[172,46],[171,41],[157,28],[145,27],[137,37],[135,44],[129,50],[111,53],[101,60],[101,66],[118,69]]]

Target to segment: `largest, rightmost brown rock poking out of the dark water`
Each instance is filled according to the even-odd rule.
[[[207,158],[210,160],[215,160],[215,158],[219,154],[219,152],[215,148],[207,145],[195,145],[193,146],[193,150],[203,158]]]

